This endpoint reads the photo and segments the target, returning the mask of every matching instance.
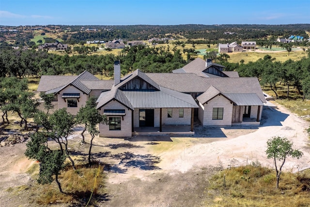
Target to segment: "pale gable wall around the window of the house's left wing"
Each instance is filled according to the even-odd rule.
[[[69,107],[68,108],[68,103],[67,103],[67,98],[65,99],[66,101],[64,101],[64,99],[62,98],[62,94],[80,94],[80,98],[78,99],[78,107]],[[62,108],[67,108],[67,111],[73,115],[77,115],[78,110],[80,109],[81,106],[85,106],[86,101],[88,100],[88,95],[87,94],[83,94],[83,92],[81,92],[80,90],[78,90],[76,87],[74,86],[68,86],[66,88],[64,88],[59,94],[57,94],[58,97],[58,109],[62,109]],[[70,99],[70,98],[69,98]],[[72,98],[72,99],[76,99],[76,98]]]

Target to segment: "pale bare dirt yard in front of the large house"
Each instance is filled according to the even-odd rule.
[[[287,159],[285,171],[310,166],[309,123],[286,109],[264,109],[260,127],[195,127],[193,137],[148,136],[128,139],[95,138],[93,159],[107,163],[102,207],[187,207],[212,205],[217,198],[206,189],[208,178],[231,166],[266,159],[266,142],[285,136],[303,151],[301,159]],[[70,139],[75,159],[85,160],[88,144],[80,144],[80,129]],[[89,139],[86,139],[88,142]],[[27,190],[35,180],[26,173],[33,160],[24,156],[25,143],[0,147],[0,206],[35,206]],[[26,189],[26,190],[25,190]],[[60,205],[66,206],[66,205]],[[69,205],[67,205],[69,206]]]

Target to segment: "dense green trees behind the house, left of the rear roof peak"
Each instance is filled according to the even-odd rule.
[[[115,60],[121,61],[123,75],[138,68],[143,72],[171,72],[186,63],[180,50],[172,52],[164,47],[143,45],[124,48],[118,55],[73,56],[44,50],[0,48],[0,77],[80,74],[84,70],[109,77],[113,74]]]

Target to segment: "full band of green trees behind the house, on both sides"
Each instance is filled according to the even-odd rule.
[[[184,45],[177,41],[176,45]],[[120,60],[123,75],[140,69],[142,72],[171,72],[183,67],[186,63],[197,57],[194,48],[170,49],[165,46],[150,47],[139,45],[122,49],[118,55],[73,55],[69,56],[48,53],[43,50],[13,50],[11,48],[0,49],[0,77],[25,78],[27,76],[40,77],[42,75],[80,74],[87,70],[92,74],[113,76],[113,64]],[[289,50],[288,50],[289,51]],[[186,54],[184,60],[183,54]],[[276,97],[277,85],[281,82],[287,87],[287,97],[291,86],[295,87],[300,95],[307,98],[310,93],[310,50],[308,57],[298,61],[288,60],[284,63],[277,61],[270,55],[256,62],[244,64],[230,63],[228,54],[209,52],[204,59],[211,58],[226,66],[226,70],[238,71],[241,77],[257,77],[261,85],[268,85],[274,91]]]

